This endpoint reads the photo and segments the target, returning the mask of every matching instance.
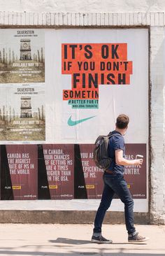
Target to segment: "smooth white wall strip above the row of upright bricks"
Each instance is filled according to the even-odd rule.
[[[165,10],[164,0],[1,0],[0,10],[32,12],[150,12]]]

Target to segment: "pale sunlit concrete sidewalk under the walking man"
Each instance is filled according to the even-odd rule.
[[[0,255],[165,255],[165,226],[136,225],[149,236],[145,243],[128,243],[124,225],[103,225],[112,244],[91,243],[92,225],[0,225]]]

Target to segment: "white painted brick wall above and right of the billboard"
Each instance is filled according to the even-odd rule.
[[[40,4],[41,3],[41,4]],[[39,6],[39,7],[38,7]],[[36,13],[36,8],[37,12]],[[150,29],[150,222],[165,224],[164,1],[1,1],[1,26],[136,26]],[[8,11],[22,13],[8,13]],[[35,13],[23,13],[31,11]],[[56,13],[41,13],[59,12]],[[104,12],[106,13],[100,13]],[[121,11],[121,13],[120,13]],[[76,12],[64,13],[62,12]],[[78,13],[81,12],[81,13]],[[84,14],[82,13],[84,12]],[[99,12],[99,13],[94,13]],[[117,13],[108,13],[117,12]],[[125,13],[123,13],[125,12]],[[127,13],[129,12],[129,13]],[[132,12],[132,13],[131,13]],[[143,12],[143,13],[136,13]],[[88,14],[87,14],[88,13]],[[32,19],[31,19],[32,17]],[[143,124],[142,124],[143,125]]]

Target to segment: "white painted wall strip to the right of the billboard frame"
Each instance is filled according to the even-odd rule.
[[[152,222],[165,224],[165,87],[164,87],[164,27],[150,31],[151,81],[151,169],[150,212]]]

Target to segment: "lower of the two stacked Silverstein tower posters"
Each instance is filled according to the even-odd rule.
[[[7,141],[45,141],[44,85],[8,86]]]

